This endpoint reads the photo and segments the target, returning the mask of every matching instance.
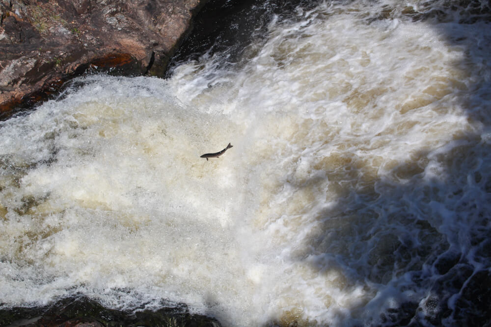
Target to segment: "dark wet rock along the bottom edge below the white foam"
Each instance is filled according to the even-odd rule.
[[[46,307],[16,307],[0,310],[0,326],[194,326],[219,327],[214,318],[191,314],[185,305],[163,307],[156,311],[109,309],[85,296],[62,299]]]

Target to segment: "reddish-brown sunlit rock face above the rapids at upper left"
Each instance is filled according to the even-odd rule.
[[[87,70],[162,75],[207,0],[0,0],[0,117]]]

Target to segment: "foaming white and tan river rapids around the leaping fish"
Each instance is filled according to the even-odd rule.
[[[85,76],[0,123],[2,307],[83,293],[224,326],[489,314],[489,18],[417,0],[285,17],[237,60]]]

